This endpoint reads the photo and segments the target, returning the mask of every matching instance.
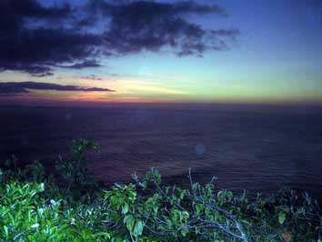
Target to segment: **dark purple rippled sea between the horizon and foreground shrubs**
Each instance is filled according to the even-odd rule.
[[[94,176],[129,181],[156,166],[186,185],[217,176],[218,187],[322,191],[319,107],[108,106],[0,107],[0,156],[50,164],[77,137],[93,138]]]

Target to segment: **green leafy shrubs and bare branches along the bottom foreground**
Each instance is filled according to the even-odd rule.
[[[248,199],[217,190],[214,181],[189,189],[164,187],[158,171],[104,189],[90,178],[86,151],[75,140],[59,157],[59,176],[39,162],[0,169],[1,241],[321,241],[322,212],[307,193],[284,189]],[[58,178],[58,179],[57,179]],[[55,179],[60,182],[55,182]]]

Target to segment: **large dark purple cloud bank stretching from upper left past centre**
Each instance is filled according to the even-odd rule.
[[[202,55],[224,50],[237,32],[205,29],[190,15],[226,16],[218,5],[192,1],[88,1],[44,6],[36,0],[0,1],[0,71],[52,76],[55,68],[101,66],[101,57],[143,50]]]

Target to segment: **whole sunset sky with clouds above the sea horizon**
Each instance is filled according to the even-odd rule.
[[[322,104],[320,0],[5,0],[0,36],[2,103]]]

